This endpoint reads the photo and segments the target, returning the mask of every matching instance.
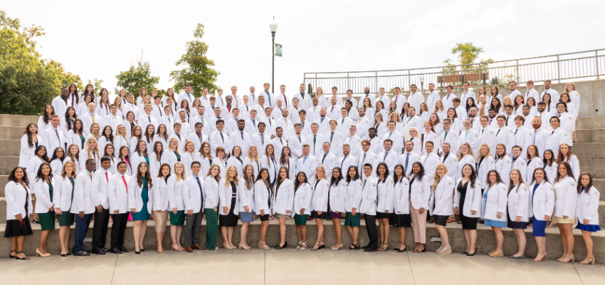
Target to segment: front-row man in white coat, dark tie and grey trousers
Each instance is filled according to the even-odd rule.
[[[201,209],[201,205],[204,204],[204,180],[199,177],[200,170],[199,162],[191,162],[191,173],[193,175],[187,177],[183,185],[183,202],[186,211],[184,237],[186,252],[193,252],[193,249],[204,249],[199,246],[199,228],[201,227],[201,219],[204,217],[204,211]]]

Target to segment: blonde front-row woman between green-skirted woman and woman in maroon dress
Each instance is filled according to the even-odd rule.
[[[327,181],[324,167],[318,166],[315,169],[315,184],[312,186],[311,216],[317,224],[317,241],[311,250],[317,250],[325,248],[323,220],[330,217],[330,207],[327,202],[330,198],[330,182]]]

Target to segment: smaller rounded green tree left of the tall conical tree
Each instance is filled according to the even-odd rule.
[[[115,93],[120,93],[120,89],[124,88],[129,94],[135,94],[135,98],[139,95],[141,88],[147,88],[147,92],[151,93],[151,90],[156,89],[155,86],[159,83],[159,76],[152,76],[151,65],[149,61],[143,61],[142,56],[137,60],[137,66],[131,64],[127,71],[120,71],[115,78],[117,78]],[[164,90],[158,90],[158,93],[163,95]]]

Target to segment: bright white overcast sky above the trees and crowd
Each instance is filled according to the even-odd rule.
[[[605,3],[542,1],[16,1],[0,5],[37,38],[43,58],[67,71],[102,79],[137,58],[149,61],[166,89],[170,71],[194,40],[202,41],[219,71],[217,85],[239,94],[271,81],[270,21],[283,58],[275,58],[275,92],[298,91],[305,72],[375,71],[441,66],[451,48],[472,42],[495,61],[605,48]],[[601,32],[599,32],[601,31]],[[327,90],[327,86],[324,87]],[[227,93],[228,91],[226,91]]]

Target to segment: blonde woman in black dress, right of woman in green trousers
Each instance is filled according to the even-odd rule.
[[[233,228],[237,226],[239,214],[239,201],[237,185],[239,177],[236,167],[227,168],[225,178],[220,182],[219,203],[221,211],[219,212],[219,224],[223,234],[223,247],[226,249],[236,249],[233,246]]]

